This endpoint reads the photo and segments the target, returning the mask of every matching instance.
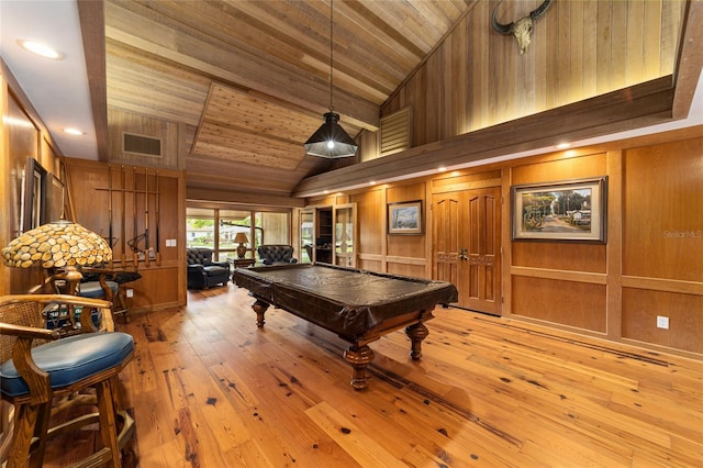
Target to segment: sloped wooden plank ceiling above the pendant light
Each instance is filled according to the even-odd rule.
[[[302,147],[331,99],[353,137],[376,131],[379,107],[472,4],[336,0],[331,94],[330,0],[109,0],[108,107],[181,124],[189,188],[288,196],[339,166]]]

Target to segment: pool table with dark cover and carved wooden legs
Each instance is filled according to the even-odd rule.
[[[373,359],[369,343],[405,327],[410,356],[420,359],[427,336],[423,322],[435,305],[456,302],[457,289],[444,281],[378,274],[327,264],[237,268],[232,280],[255,298],[257,325],[274,305],[322,326],[350,343],[344,358],[354,368],[352,387],[368,387],[366,369]]]

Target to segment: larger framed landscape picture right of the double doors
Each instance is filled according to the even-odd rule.
[[[511,187],[513,241],[605,244],[607,177]]]

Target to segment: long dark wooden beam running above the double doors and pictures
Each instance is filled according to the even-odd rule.
[[[419,177],[439,167],[468,166],[484,159],[556,146],[670,122],[672,77],[658,78],[573,104],[417,146],[303,179],[293,197],[368,187],[370,181]]]

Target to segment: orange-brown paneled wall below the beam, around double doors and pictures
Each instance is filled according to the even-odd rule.
[[[606,244],[511,241],[511,186],[601,176]],[[433,193],[486,185],[501,186],[503,196],[503,315],[703,357],[703,127],[370,187],[325,203],[357,203],[360,268],[429,278]],[[387,204],[412,200],[423,201],[424,234],[387,235]],[[668,330],[657,316],[669,317]]]

